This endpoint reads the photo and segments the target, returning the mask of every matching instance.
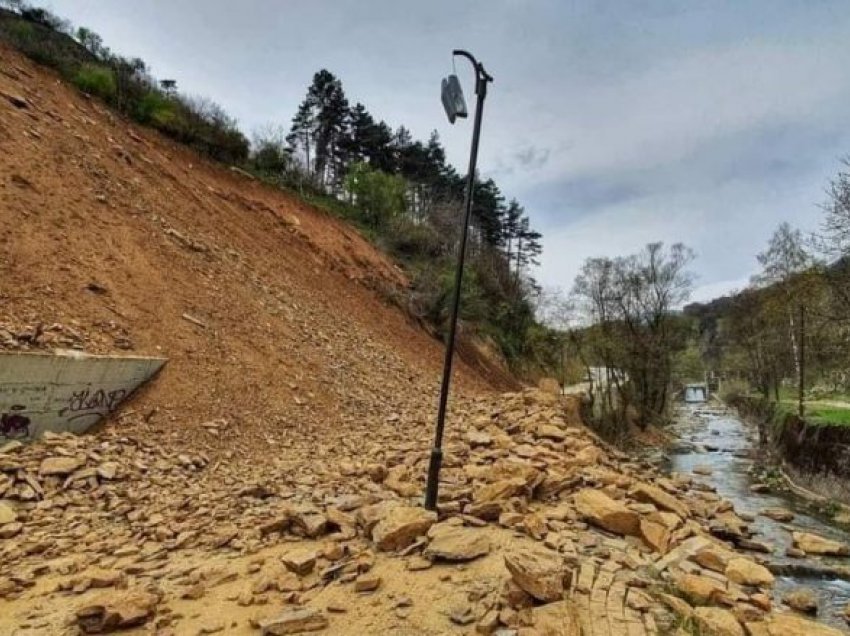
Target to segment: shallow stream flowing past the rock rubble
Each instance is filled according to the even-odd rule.
[[[782,596],[790,590],[807,587],[818,596],[817,619],[848,631],[840,616],[850,601],[850,581],[834,575],[818,574],[827,566],[850,566],[848,558],[807,557],[792,559],[785,555],[791,547],[790,529],[814,532],[823,537],[850,543],[850,534],[831,526],[827,521],[813,516],[807,502],[785,493],[759,494],[751,490],[755,483],[750,474],[757,449],[757,431],[740,420],[734,411],[715,403],[682,405],[677,413],[673,430],[679,443],[666,454],[663,464],[670,472],[692,473],[694,468],[707,467],[711,474],[694,475],[707,482],[717,493],[735,506],[736,512],[752,515],[749,523],[755,532],[754,539],[768,543],[773,548],[771,563],[793,566],[794,574],[777,575],[774,604],[778,607]],[[785,508],[795,514],[789,523],[780,523],[759,515],[765,508]],[[807,566],[813,572],[802,573]]]

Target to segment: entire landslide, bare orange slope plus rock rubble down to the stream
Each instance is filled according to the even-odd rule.
[[[382,300],[404,285],[0,49],[0,347],[170,359],[103,430],[0,444],[0,634],[843,633],[777,612],[748,517],[576,397],[460,365],[423,509],[442,348]]]

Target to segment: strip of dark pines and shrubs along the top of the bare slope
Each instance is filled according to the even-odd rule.
[[[8,7],[0,9],[0,40],[79,90],[357,226],[406,270],[408,310],[444,328],[465,183],[436,131],[417,140],[405,126],[391,127],[322,69],[291,105],[291,120],[270,122],[249,141],[218,104],[182,95],[179,79],[154,78],[144,60],[116,53],[91,29],[19,0],[0,5]],[[515,370],[552,365],[553,336],[535,321],[529,272],[541,235],[523,206],[484,176],[476,179],[471,237],[465,332],[494,341]]]

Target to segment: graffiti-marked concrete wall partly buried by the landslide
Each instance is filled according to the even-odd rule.
[[[77,351],[0,353],[0,442],[81,433],[114,411],[164,358]]]

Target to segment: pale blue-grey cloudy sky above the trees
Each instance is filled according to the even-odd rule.
[[[439,101],[450,51],[495,77],[479,169],[544,234],[537,272],[568,289],[590,256],[663,240],[698,258],[696,299],[742,286],[772,230],[814,230],[850,154],[846,0],[50,0],[246,133],[289,123],[313,73],[393,127],[469,122]],[[471,72],[457,70],[471,102]]]

